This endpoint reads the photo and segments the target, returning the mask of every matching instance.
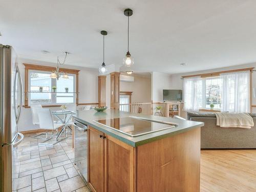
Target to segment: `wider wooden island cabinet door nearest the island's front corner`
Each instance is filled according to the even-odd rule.
[[[135,191],[135,148],[109,135],[104,138],[105,191]]]

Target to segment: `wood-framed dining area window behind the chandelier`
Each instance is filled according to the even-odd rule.
[[[69,78],[50,78],[53,67],[24,64],[25,68],[25,107],[30,104],[58,106],[76,103],[78,97],[77,77],[79,70],[65,70]],[[70,73],[69,73],[70,72]],[[53,90],[56,87],[56,91]],[[67,89],[66,89],[67,88]]]

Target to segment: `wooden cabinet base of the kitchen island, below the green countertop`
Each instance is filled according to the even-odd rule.
[[[97,192],[199,192],[200,133],[198,127],[132,147],[89,126],[89,187]]]

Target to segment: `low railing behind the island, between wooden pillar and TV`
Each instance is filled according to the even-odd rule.
[[[119,110],[131,112],[131,113],[141,113],[144,115],[151,115],[152,114],[152,103],[119,104]]]

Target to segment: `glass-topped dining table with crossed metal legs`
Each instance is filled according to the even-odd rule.
[[[63,124],[61,131],[57,134],[56,140],[58,140],[63,133],[65,133],[65,139],[68,138],[66,129],[70,129],[72,131],[70,125],[72,125],[71,118],[74,114],[76,113],[70,110],[52,111],[52,115]]]

